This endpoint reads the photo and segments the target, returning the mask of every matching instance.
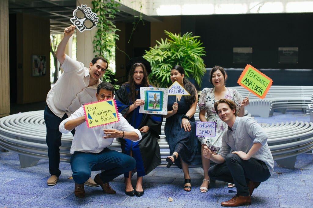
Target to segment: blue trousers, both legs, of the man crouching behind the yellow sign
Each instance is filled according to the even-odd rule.
[[[131,171],[136,166],[136,160],[124,153],[105,148],[99,153],[86,153],[75,151],[71,155],[73,179],[83,184],[90,178],[91,171],[103,171],[101,180],[106,183],[117,176]]]

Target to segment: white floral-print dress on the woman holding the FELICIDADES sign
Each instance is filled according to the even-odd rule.
[[[222,135],[227,128],[227,124],[224,123],[215,112],[214,102],[218,100],[215,100],[214,92],[215,88],[204,88],[200,94],[198,106],[200,111],[205,110],[207,112],[207,121],[215,122],[215,136],[198,136],[198,140],[202,144],[206,144],[211,151],[218,153],[222,146]],[[235,89],[227,88],[224,98],[232,100],[235,103],[238,113],[243,101],[240,93]]]

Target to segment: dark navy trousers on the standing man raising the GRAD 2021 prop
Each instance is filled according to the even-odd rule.
[[[57,177],[61,175],[61,171],[59,170],[59,147],[61,146],[62,133],[59,131],[59,125],[66,118],[68,118],[66,113],[62,118],[60,118],[50,110],[48,105],[46,105],[46,107],[44,108],[44,122],[47,128],[46,142],[48,145],[49,172],[51,175],[55,175]],[[71,133],[74,136],[75,129],[73,129]]]

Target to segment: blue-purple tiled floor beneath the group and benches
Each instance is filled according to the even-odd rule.
[[[299,114],[299,115],[297,115]],[[259,122],[302,120],[309,117],[297,111],[288,114],[275,113],[270,118],[255,117]],[[262,119],[262,121],[260,121]],[[21,168],[18,155],[0,152],[0,207],[221,207],[220,203],[234,196],[228,193],[227,183],[211,183],[207,193],[199,187],[203,179],[201,168],[190,168],[192,191],[183,191],[183,173],[177,168],[156,168],[144,176],[145,194],[129,197],[124,193],[123,176],[110,185],[115,195],[104,194],[100,187],[85,186],[86,196],[74,196],[74,182],[69,179],[69,163],[61,162],[62,174],[55,186],[47,186],[49,167],[47,160],[36,166]],[[276,173],[278,172],[278,173]],[[92,177],[98,172],[92,172]],[[135,185],[136,175],[133,177]],[[168,201],[172,197],[173,201]],[[247,206],[246,206],[247,207]],[[297,157],[295,169],[275,168],[273,175],[253,192],[252,204],[248,207],[313,207],[313,155]]]

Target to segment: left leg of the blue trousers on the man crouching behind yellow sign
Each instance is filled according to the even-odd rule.
[[[73,180],[79,184],[85,183],[90,178],[91,168],[97,163],[97,153],[74,152],[71,155]]]

